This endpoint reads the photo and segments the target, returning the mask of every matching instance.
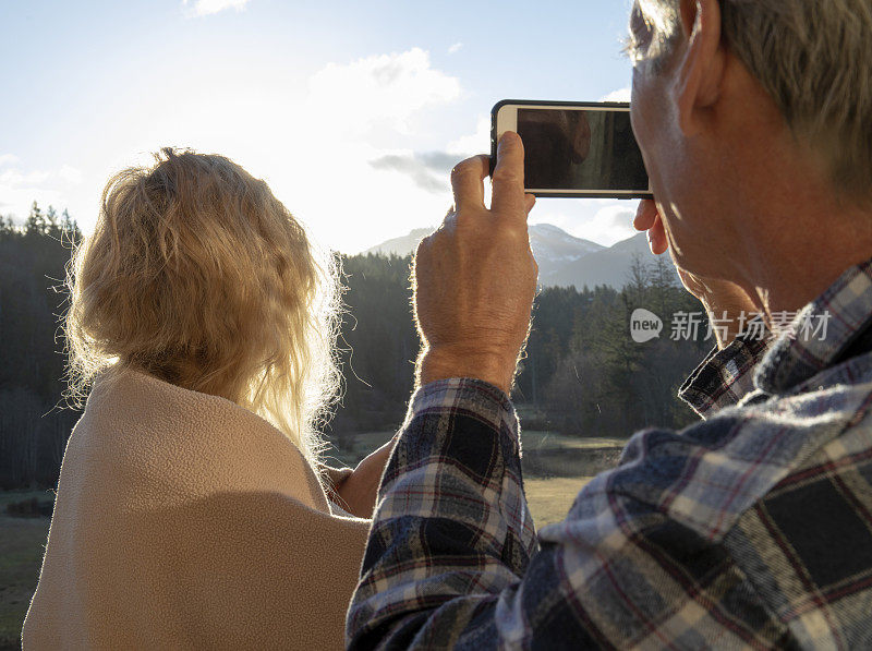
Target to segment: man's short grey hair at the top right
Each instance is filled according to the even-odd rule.
[[[719,0],[723,37],[847,196],[872,200],[872,2]],[[637,61],[661,69],[681,35],[680,0],[638,0],[651,31]],[[632,38],[632,36],[631,36]]]

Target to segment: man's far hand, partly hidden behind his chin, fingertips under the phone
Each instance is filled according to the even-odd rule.
[[[647,242],[654,255],[661,255],[669,249],[666,228],[652,200],[639,202],[639,209],[633,220],[635,230],[647,231]],[[708,321],[717,338],[717,347],[723,349],[739,334],[743,324],[756,312],[756,308],[741,287],[730,280],[698,276],[676,265],[681,284],[690,293],[700,299]],[[744,313],[746,318],[740,318]]]

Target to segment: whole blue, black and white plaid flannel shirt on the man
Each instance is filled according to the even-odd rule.
[[[828,315],[824,339],[792,331]],[[474,379],[422,387],[379,492],[351,649],[872,649],[872,265],[681,388],[536,537],[519,426]],[[862,345],[858,345],[858,339]]]

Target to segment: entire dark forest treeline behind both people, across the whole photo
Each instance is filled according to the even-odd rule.
[[[81,412],[62,400],[68,300],[65,265],[82,238],[76,222],[34,203],[24,226],[0,217],[0,489],[55,486]],[[339,358],[342,397],[327,436],[399,425],[412,390],[419,339],[411,320],[409,257],[341,256],[346,291]],[[630,315],[700,312],[675,285],[668,262],[637,261],[620,291],[544,288],[513,398],[528,429],[572,436],[625,436],[694,417],[676,398],[711,347],[692,340],[637,343]]]

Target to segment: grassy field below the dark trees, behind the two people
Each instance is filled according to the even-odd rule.
[[[341,449],[328,451],[330,465],[353,467],[392,434],[371,432],[347,437]],[[604,463],[611,462],[611,453],[622,444],[613,438],[524,432],[524,485],[536,527],[562,520],[578,492]],[[600,454],[604,450],[608,453],[605,456]],[[0,492],[0,651],[21,648],[21,625],[39,578],[49,526],[48,518],[8,517],[7,505],[50,496],[50,491]]]

